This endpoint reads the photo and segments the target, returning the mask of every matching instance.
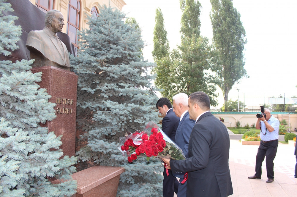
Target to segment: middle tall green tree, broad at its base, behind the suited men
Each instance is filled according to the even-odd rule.
[[[173,84],[173,95],[179,92],[188,95],[203,91],[208,94],[211,105],[216,106],[214,78],[210,75],[210,52],[208,39],[200,36],[199,1],[180,0],[181,10],[181,44],[178,51],[173,51],[173,72],[170,79]],[[172,96],[173,96],[172,95]]]

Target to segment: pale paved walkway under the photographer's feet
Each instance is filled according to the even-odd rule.
[[[274,182],[266,183],[266,163],[262,165],[261,179],[248,179],[255,174],[256,154],[259,146],[242,145],[230,135],[229,168],[233,185],[233,195],[252,196],[297,196],[297,179],[294,178],[296,158],[294,146],[279,143],[274,159]],[[232,135],[232,137],[231,137]],[[280,136],[283,137],[283,136]],[[282,139],[279,139],[283,141]]]

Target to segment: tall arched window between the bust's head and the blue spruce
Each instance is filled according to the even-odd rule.
[[[68,4],[67,34],[70,37],[70,41],[76,47],[78,47],[76,31],[79,30],[79,20],[80,0],[70,0]]]

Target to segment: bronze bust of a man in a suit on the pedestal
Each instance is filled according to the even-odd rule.
[[[35,59],[33,67],[54,66],[70,71],[67,48],[57,36],[63,25],[62,13],[53,9],[45,14],[45,27],[42,30],[29,32],[26,46],[30,50],[30,59]]]

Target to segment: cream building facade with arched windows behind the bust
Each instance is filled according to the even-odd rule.
[[[97,17],[99,8],[103,5],[122,10],[126,5],[124,0],[29,0],[43,12],[51,9],[61,11],[64,16],[65,26],[62,30],[70,37],[70,41],[77,47],[77,30],[88,28],[87,17]]]

